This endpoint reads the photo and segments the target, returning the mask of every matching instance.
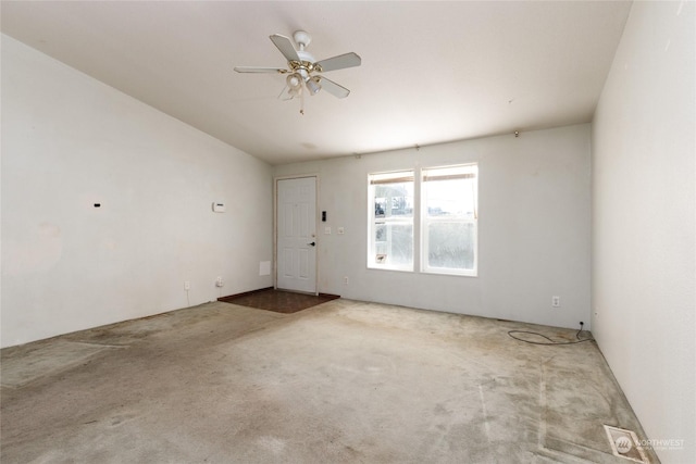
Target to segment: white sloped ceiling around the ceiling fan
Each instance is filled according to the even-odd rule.
[[[2,32],[273,164],[586,123],[630,2],[2,1]],[[351,93],[277,99],[312,35]]]

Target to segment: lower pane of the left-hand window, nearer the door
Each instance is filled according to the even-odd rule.
[[[378,223],[374,233],[374,264],[397,267],[412,265],[413,224]]]

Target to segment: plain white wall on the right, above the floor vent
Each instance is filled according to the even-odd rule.
[[[593,123],[593,331],[663,463],[696,454],[694,2],[635,2]]]

